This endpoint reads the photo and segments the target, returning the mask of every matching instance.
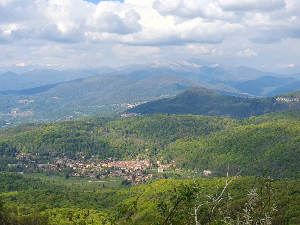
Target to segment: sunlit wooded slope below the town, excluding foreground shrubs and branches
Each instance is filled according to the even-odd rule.
[[[12,180],[16,180],[13,184]],[[266,182],[266,184],[265,184]],[[199,187],[203,187],[203,193],[199,196],[201,200],[209,199],[215,191],[221,192],[225,184],[222,179],[195,179]],[[289,190],[295,183],[293,180],[268,180],[261,177],[239,177],[233,181],[224,193],[232,196],[231,200],[223,200],[223,204],[229,204],[231,215],[234,217],[238,208],[244,207],[248,197],[244,193],[252,188],[258,188],[257,193],[262,196],[269,196],[268,208],[277,208],[277,216],[271,215],[272,220],[284,224],[288,222],[297,224],[299,184],[295,183],[292,193]],[[24,187],[22,187],[25,184]],[[10,186],[13,185],[13,188]],[[193,180],[183,180],[183,187],[193,185]],[[149,225],[162,224],[165,215],[169,213],[167,208],[172,208],[176,203],[172,199],[175,188],[181,189],[180,180],[164,179],[150,184],[143,184],[137,187],[124,188],[121,190],[85,191],[71,189],[68,186],[55,184],[51,179],[46,181],[28,180],[22,175],[0,174],[0,221],[5,224],[95,224],[95,225]],[[267,189],[262,188],[266,186]],[[289,187],[287,189],[287,186]],[[268,195],[268,191],[271,194]],[[205,193],[208,193],[205,195]],[[289,208],[286,208],[287,197],[292,200]],[[193,198],[196,196],[193,196]],[[192,201],[192,199],[190,199]],[[255,201],[255,199],[254,199]],[[4,203],[2,205],[2,203]],[[259,203],[258,203],[259,204]],[[164,207],[161,207],[163,205]],[[222,204],[220,204],[222,205]],[[225,206],[225,205],[224,205]],[[125,208],[126,207],[126,208]],[[193,217],[182,210],[185,204],[178,205],[178,211],[174,213],[169,223],[186,224],[189,221],[193,224]],[[260,204],[259,204],[260,207]],[[222,207],[220,207],[222,208]],[[163,211],[163,210],[164,211]],[[286,212],[283,213],[283,210]],[[201,208],[198,218],[203,223],[207,217],[208,209]],[[165,214],[165,215],[164,215]],[[287,214],[287,217],[284,218]],[[254,216],[254,215],[253,215]],[[129,220],[126,220],[130,217]],[[216,218],[222,217],[216,214]],[[282,220],[284,218],[284,220]]]

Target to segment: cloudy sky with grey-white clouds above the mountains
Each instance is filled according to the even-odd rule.
[[[1,0],[0,64],[200,58],[298,72],[299,11],[299,0]]]

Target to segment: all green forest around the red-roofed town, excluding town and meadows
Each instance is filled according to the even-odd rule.
[[[254,218],[258,222],[253,225],[298,224],[299,141],[300,110],[245,119],[191,114],[90,117],[3,129],[0,221],[6,225],[184,225],[195,224],[193,210],[201,206],[195,213],[197,224],[251,224]],[[159,158],[191,172],[189,178],[167,172],[161,179],[134,186],[123,180],[121,188],[101,183],[99,188],[84,190],[55,182],[51,176],[57,172],[48,171],[44,179],[14,173],[24,172],[24,167],[7,164],[17,163],[15,156],[22,152],[64,153],[69,158]],[[243,170],[237,176],[240,166]],[[228,180],[234,178],[230,184],[228,167]],[[212,170],[213,177],[192,179],[193,173],[204,169]]]

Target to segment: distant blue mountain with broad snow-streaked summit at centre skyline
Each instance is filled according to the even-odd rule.
[[[202,82],[236,84],[261,76],[282,76],[277,73],[263,72],[254,68],[240,66],[228,67],[200,59],[182,61],[155,61],[147,64],[131,64],[119,67],[118,74],[125,74],[141,80],[158,73],[170,73],[179,76],[195,78]]]

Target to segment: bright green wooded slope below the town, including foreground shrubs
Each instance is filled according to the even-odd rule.
[[[0,174],[0,178],[0,221],[7,225],[102,225],[120,224],[123,221],[123,224],[140,225],[195,224],[195,218],[191,215],[194,213],[195,201],[198,204],[208,202],[197,211],[199,224],[214,224],[218,221],[222,221],[220,224],[231,224],[238,218],[246,224],[244,222],[248,219],[239,215],[243,215],[245,204],[249,204],[250,199],[253,200],[252,206],[249,206],[253,210],[248,207],[251,218],[258,217],[260,211],[264,212],[259,216],[259,223],[255,224],[265,224],[265,213],[270,217],[267,224],[300,223],[299,182],[272,180],[265,173],[260,177],[237,177],[227,186],[221,195],[222,199],[214,208],[209,202],[216,196],[216,190],[221,193],[226,185],[225,178],[196,178],[195,183],[193,179],[164,179],[138,187],[120,190],[99,188],[94,191],[71,190],[66,185],[13,173]],[[13,189],[6,189],[7,185],[13,185]],[[182,197],[184,199],[180,200]],[[215,222],[208,220],[212,218],[212,209]]]

